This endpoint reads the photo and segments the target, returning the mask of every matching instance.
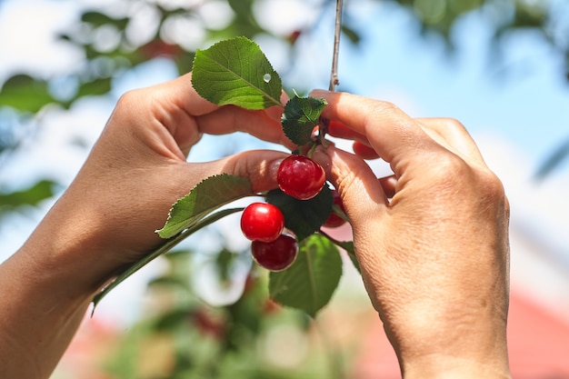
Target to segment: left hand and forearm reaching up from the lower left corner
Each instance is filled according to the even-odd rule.
[[[294,148],[282,132],[282,109],[217,107],[195,93],[190,79],[124,95],[75,181],[0,264],[0,377],[47,378],[93,295],[160,244],[155,230],[197,183],[227,173],[249,178],[254,192],[277,186],[284,152],[186,162],[205,133],[242,131]]]

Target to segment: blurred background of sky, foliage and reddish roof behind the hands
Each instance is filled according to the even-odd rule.
[[[569,378],[569,2],[344,3],[337,90],[464,123],[512,204],[514,378]],[[191,71],[195,49],[236,35],[261,46],[285,90],[326,88],[334,8],[0,0],[0,261],[69,185],[125,91]],[[189,159],[278,148],[247,135],[204,142]],[[237,222],[196,234],[109,294],[52,379],[399,377],[350,264],[309,320],[267,299]]]

